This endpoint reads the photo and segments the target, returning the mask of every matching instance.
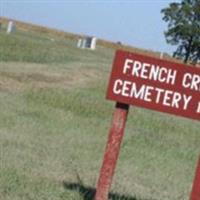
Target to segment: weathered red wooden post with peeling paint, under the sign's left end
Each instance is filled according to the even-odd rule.
[[[95,200],[107,200],[114,171],[119,156],[120,145],[124,135],[124,128],[128,115],[129,105],[116,103],[112,125],[100,171]]]

